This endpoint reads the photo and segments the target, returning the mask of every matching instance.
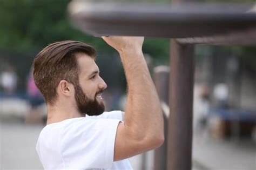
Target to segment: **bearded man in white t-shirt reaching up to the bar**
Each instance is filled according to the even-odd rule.
[[[124,121],[120,111],[104,112],[106,84],[93,47],[57,42],[34,60],[35,83],[48,108],[36,146],[45,169],[132,169],[127,158],[163,144],[163,115],[142,53],[144,38],[103,39],[119,52],[124,66]]]

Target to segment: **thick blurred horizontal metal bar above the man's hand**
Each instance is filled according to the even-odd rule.
[[[180,43],[256,43],[255,6],[230,4],[123,4],[72,1],[69,17],[78,29],[94,36],[146,36],[179,39]],[[250,29],[248,33],[246,30]],[[253,35],[253,36],[251,36]],[[219,37],[222,37],[220,40]],[[205,39],[192,39],[204,37]],[[210,39],[206,40],[209,37]],[[240,39],[236,40],[238,44]],[[216,43],[215,43],[216,44]]]

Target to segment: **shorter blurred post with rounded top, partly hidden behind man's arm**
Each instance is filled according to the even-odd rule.
[[[154,68],[154,83],[161,102],[168,103],[169,96],[169,66],[157,66]],[[168,105],[168,104],[167,104]],[[164,114],[164,144],[154,150],[154,170],[166,170],[167,166],[167,137],[168,137],[168,117]]]

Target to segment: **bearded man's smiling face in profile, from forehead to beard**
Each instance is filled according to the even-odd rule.
[[[78,58],[78,64],[79,83],[74,85],[78,111],[83,115],[100,115],[105,110],[102,93],[106,83],[99,76],[99,68],[92,58],[83,54]]]

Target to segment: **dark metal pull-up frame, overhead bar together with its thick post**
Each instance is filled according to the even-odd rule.
[[[68,9],[73,25],[93,36],[175,38],[171,40],[166,166],[172,170],[188,170],[192,166],[192,44],[256,44],[255,5],[177,4],[180,2],[161,5],[72,1]]]

